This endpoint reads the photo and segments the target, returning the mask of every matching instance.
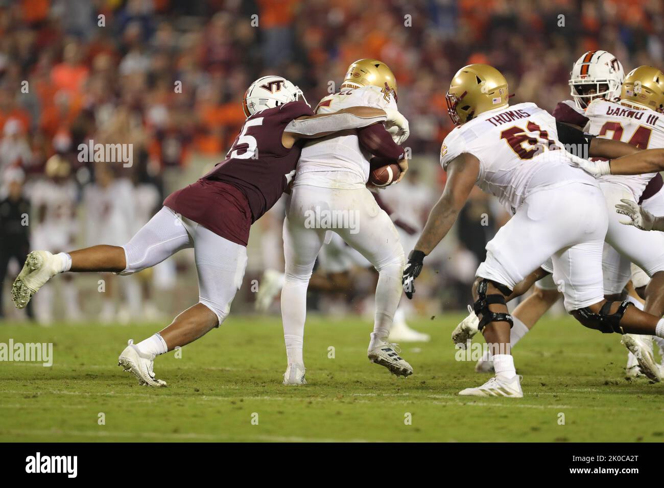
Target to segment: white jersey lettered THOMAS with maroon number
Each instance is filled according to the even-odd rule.
[[[537,105],[524,103],[489,110],[448,134],[440,149],[444,169],[461,153],[479,159],[477,186],[511,213],[530,193],[572,181],[596,185],[558,141],[556,120]]]

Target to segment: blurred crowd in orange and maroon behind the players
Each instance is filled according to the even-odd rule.
[[[515,102],[552,110],[569,98],[570,67],[586,50],[613,52],[627,72],[657,65],[663,42],[658,0],[0,0],[0,279],[9,273],[6,291],[24,248],[124,244],[165,195],[223,158],[258,76],[286,76],[315,105],[353,60],[386,62],[410,120],[411,166],[427,165],[426,177],[408,183],[428,195],[406,210],[421,227],[444,185],[436,160],[452,129],[445,94],[459,67],[493,64]],[[90,140],[131,144],[131,167],[80,161],[78,147]],[[392,200],[405,208],[401,193]],[[8,223],[7,202],[14,216],[31,208],[27,228]],[[463,307],[473,266],[504,218],[473,195],[444,258],[452,264],[433,279],[442,287],[432,290],[450,291],[430,293],[437,307]],[[257,252],[254,272],[279,268],[279,208],[258,227],[256,249],[272,243],[276,251]],[[156,282],[177,287],[173,270]],[[128,302],[139,287],[125,293]],[[73,288],[63,293],[66,303],[80,300]],[[7,293],[0,318],[3,303],[7,311]],[[146,309],[129,309],[137,307]],[[52,317],[45,310],[41,321]]]

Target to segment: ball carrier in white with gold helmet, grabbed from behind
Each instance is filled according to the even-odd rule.
[[[323,98],[316,113],[350,106],[396,111],[396,97],[396,80],[390,68],[379,60],[361,59],[349,66],[341,91]],[[407,132],[394,133],[395,142],[402,143],[407,136]],[[381,137],[392,145],[384,148],[385,154],[378,153],[386,145]],[[401,177],[408,169],[403,149],[392,143],[382,125],[309,141],[302,149],[284,220],[286,278],[281,303],[288,355],[284,384],[305,384],[302,346],[307,286],[321,246],[331,238],[327,232],[339,234],[378,271],[369,359],[393,374],[412,374],[412,367],[387,341],[401,298],[405,258],[392,220],[366,186],[372,154],[397,159]],[[325,224],[326,216],[338,216],[341,222]]]

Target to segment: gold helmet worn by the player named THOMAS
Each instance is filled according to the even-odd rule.
[[[461,125],[482,112],[507,105],[507,80],[493,66],[469,64],[456,72],[445,98],[452,122]]]

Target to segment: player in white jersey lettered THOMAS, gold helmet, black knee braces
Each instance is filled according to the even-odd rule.
[[[498,197],[514,215],[487,244],[487,259],[473,284],[473,309],[495,376],[459,394],[523,396],[505,297],[549,256],[565,308],[580,323],[603,333],[664,337],[664,319],[629,307],[628,301],[604,299],[606,201],[597,183],[572,167],[578,158],[562,149],[554,118],[532,103],[510,107],[507,80],[485,64],[461,68],[446,98],[457,125],[441,149],[448,180],[408,256],[402,278],[406,295],[412,297],[424,258],[446,236],[473,185]]]

